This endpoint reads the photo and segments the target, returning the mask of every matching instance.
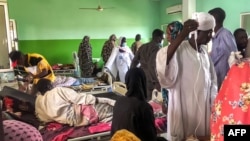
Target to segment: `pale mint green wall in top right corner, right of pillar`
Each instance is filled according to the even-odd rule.
[[[196,0],[196,9],[198,12],[208,12],[215,7],[221,7],[226,12],[224,27],[233,32],[240,27],[240,13],[250,12],[250,1],[229,1],[229,0]]]

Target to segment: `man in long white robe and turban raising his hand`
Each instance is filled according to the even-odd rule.
[[[158,80],[169,90],[167,139],[181,141],[190,135],[210,135],[210,112],[217,94],[213,63],[204,47],[212,37],[214,18],[197,13],[156,57]],[[192,31],[196,35],[185,40]]]

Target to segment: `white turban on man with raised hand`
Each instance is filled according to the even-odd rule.
[[[206,12],[197,12],[194,13],[193,18],[196,19],[199,23],[198,30],[207,31],[214,29],[215,19],[214,17]]]

